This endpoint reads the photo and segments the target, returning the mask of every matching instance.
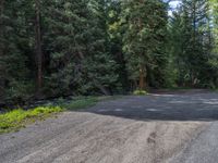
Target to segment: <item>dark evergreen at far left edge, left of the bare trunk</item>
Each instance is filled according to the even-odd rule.
[[[29,92],[29,39],[24,1],[1,1],[0,77],[3,97],[22,98]]]

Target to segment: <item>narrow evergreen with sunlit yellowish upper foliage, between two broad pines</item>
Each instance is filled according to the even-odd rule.
[[[113,54],[113,58],[117,62],[118,70],[117,74],[119,74],[119,82],[121,83],[122,91],[130,90],[130,85],[128,80],[128,72],[125,66],[124,52],[122,50],[123,43],[122,38],[124,34],[124,28],[122,27],[121,21],[121,1],[110,0],[108,2],[108,34],[109,34],[109,42],[110,42],[110,51]]]

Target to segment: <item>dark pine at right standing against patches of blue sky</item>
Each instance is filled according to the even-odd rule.
[[[184,0],[171,21],[172,55],[178,66],[178,83],[210,85],[211,32],[207,0]]]

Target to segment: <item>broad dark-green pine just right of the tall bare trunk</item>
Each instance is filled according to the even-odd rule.
[[[52,32],[46,38],[51,51],[50,84],[58,91],[53,93],[99,89],[108,95],[110,84],[117,80],[98,9],[87,0],[55,1],[48,5],[48,30]]]

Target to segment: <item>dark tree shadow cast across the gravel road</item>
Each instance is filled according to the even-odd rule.
[[[125,97],[84,110],[138,121],[218,121],[218,93],[161,93]]]

